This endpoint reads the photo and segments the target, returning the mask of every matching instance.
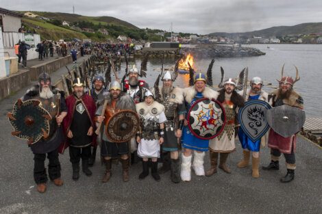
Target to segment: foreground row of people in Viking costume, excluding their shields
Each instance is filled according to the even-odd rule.
[[[101,161],[105,165],[101,179],[103,183],[107,183],[112,176],[112,159],[121,161],[123,181],[129,180],[129,166],[134,163],[133,159],[131,161],[134,151],[143,165],[143,171],[138,175],[140,180],[149,175],[151,168],[152,177],[160,181],[158,161],[161,159],[164,161],[161,170],[171,170],[171,181],[179,183],[180,180],[191,180],[191,168],[197,176],[212,176],[219,165],[223,172],[230,174],[227,158],[236,150],[237,135],[243,148],[243,159],[237,164],[238,168],[246,168],[251,157],[252,176],[258,178],[260,147],[268,141],[271,163],[262,169],[279,170],[279,158],[283,153],[287,174],[280,181],[287,183],[295,178],[296,134],[283,137],[278,131],[270,129],[260,139],[253,141],[240,129],[237,117],[245,102],[254,100],[265,101],[271,107],[289,105],[303,109],[303,99],[293,90],[294,83],[299,80],[298,71],[295,80],[282,75],[278,81],[279,88],[271,94],[262,90],[264,84],[260,77],[251,79],[249,90],[238,93],[240,87],[236,79],[224,79],[219,85],[221,89],[215,91],[210,87],[212,85],[207,84],[206,75],[200,72],[195,74],[193,85],[184,89],[173,85],[175,74],[171,71],[162,72],[150,89],[145,81],[138,80],[139,71],[135,66],[129,69],[127,76],[128,79],[123,83],[112,81],[108,87],[104,87],[104,78],[97,75],[88,94],[84,90],[84,81],[76,78],[73,81],[73,94],[65,100],[64,92],[53,87],[51,77],[43,72],[38,78],[38,85],[28,90],[22,101],[18,101],[18,105],[21,105],[21,102],[36,100],[39,103],[37,105],[49,112],[49,133],[42,129],[43,137],[38,142],[34,143],[32,138],[28,140],[34,153],[34,180],[40,193],[47,189],[46,157],[49,159],[49,178],[55,185],[63,185],[58,152],[64,152],[68,146],[73,180],[79,179],[81,159],[82,172],[86,176],[92,175],[89,167],[95,163],[99,145]],[[160,88],[159,79],[162,81]],[[201,99],[219,102],[225,112],[225,124],[221,132],[210,139],[197,137],[187,126],[188,112]],[[119,142],[107,134],[108,122],[116,113],[124,110],[134,112],[140,122],[133,136],[125,142]],[[10,113],[8,117],[10,121],[15,120]],[[30,117],[24,121],[29,126],[34,122]],[[126,121],[120,122],[119,129],[127,130],[127,126]],[[14,135],[19,133],[13,132]],[[210,168],[205,172],[203,163],[208,150]]]

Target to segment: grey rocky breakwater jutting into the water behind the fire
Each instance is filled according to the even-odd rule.
[[[160,50],[149,49],[149,51],[138,50],[134,56],[140,57],[149,52],[149,57],[179,57],[188,53],[197,57],[255,57],[265,55],[266,53],[259,49],[243,46],[227,46],[227,45],[197,45],[193,47],[183,47],[177,50]]]

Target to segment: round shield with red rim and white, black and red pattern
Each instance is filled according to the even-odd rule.
[[[225,109],[216,101],[201,98],[188,112],[188,127],[200,139],[212,139],[219,135],[225,126]]]

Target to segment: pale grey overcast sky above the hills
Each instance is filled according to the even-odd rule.
[[[321,0],[0,0],[8,10],[113,16],[140,28],[195,34],[322,22]]]

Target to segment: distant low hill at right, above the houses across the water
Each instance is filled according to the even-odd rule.
[[[278,26],[278,27],[269,27],[267,29],[261,29],[258,31],[248,31],[244,33],[225,33],[225,32],[216,32],[208,34],[209,36],[262,36],[269,38],[271,36],[286,36],[286,35],[299,35],[299,34],[314,34],[322,32],[322,23],[302,23],[299,25],[293,26]]]

